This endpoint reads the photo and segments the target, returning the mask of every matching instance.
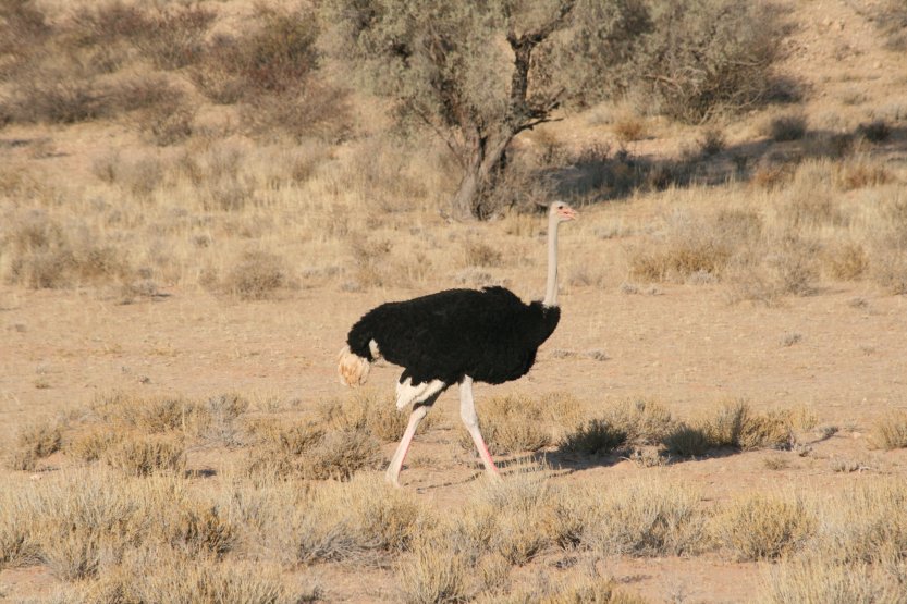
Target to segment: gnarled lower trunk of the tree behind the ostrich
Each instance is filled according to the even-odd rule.
[[[491,137],[476,137],[469,151],[469,161],[466,164],[463,180],[459,181],[459,188],[452,200],[455,219],[488,218],[482,212],[482,201],[493,189],[494,175],[514,136],[516,136],[515,132],[504,131]]]

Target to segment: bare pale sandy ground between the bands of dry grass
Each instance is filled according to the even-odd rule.
[[[412,292],[339,293],[302,291],[275,301],[237,304],[206,295],[169,292],[159,301],[120,305],[87,292],[5,292],[0,298],[0,429],[2,439],[30,417],[84,407],[96,393],[122,390],[142,395],[188,396],[240,392],[295,400],[304,409],[347,391],[335,378],[334,358],[350,324],[383,300]],[[855,301],[858,300],[858,301]],[[682,418],[695,417],[728,397],[757,409],[805,406],[820,426],[836,426],[831,439],[816,440],[807,456],[797,452],[750,452],[646,469],[628,460],[578,463],[549,456],[551,480],[609,483],[645,472],[697,484],[707,502],[743,490],[794,486],[832,492],[878,474],[905,474],[907,452],[873,449],[872,422],[894,408],[907,409],[907,299],[877,296],[848,285],[781,307],[728,305],[716,286],[665,286],[659,295],[574,288],[562,299],[563,319],[524,379],[491,393],[568,392],[589,415],[603,402],[646,396]],[[800,341],[785,346],[786,335]],[[556,354],[554,352],[557,350]],[[589,350],[606,360],[581,356]],[[565,352],[578,353],[576,356]],[[391,392],[396,369],[378,367],[370,385]],[[46,386],[46,387],[38,387]],[[439,426],[417,436],[413,466],[403,483],[439,506],[455,505],[478,476],[456,444],[455,392],[434,414]],[[393,449],[388,445],[387,455]],[[783,469],[768,468],[784,457]],[[834,459],[858,461],[860,472],[836,472]],[[191,459],[204,467],[208,460]],[[759,584],[759,565],[716,555],[690,559],[618,558],[600,568],[654,601],[678,594],[691,602],[747,600]],[[537,571],[552,572],[544,560]],[[394,600],[385,572],[364,581],[358,570],[317,567],[329,596],[350,601]],[[10,594],[50,579],[39,568],[0,572]],[[12,587],[11,587],[12,585]],[[25,590],[25,591],[21,591]]]

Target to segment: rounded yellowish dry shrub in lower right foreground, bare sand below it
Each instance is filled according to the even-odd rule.
[[[775,559],[795,552],[817,528],[816,510],[787,494],[743,495],[712,522],[715,541],[739,560]]]

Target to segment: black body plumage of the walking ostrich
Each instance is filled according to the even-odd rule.
[[[529,371],[560,318],[560,308],[524,304],[504,287],[446,289],[373,308],[346,341],[353,353],[373,360],[375,340],[381,356],[405,369],[401,382],[410,377],[413,383],[453,384],[469,375],[500,384]]]

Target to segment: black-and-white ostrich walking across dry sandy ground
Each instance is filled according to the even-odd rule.
[[[406,301],[382,304],[359,319],[340,352],[341,382],[358,386],[370,363],[384,358],[403,367],[396,407],[413,405],[409,422],[388,467],[399,485],[403,459],[419,422],[444,390],[459,385],[459,416],[489,476],[498,468],[479,432],[473,382],[500,384],[525,375],[536,352],[557,326],[557,226],[576,212],[555,201],[548,212],[548,285],[544,299],[524,304],[504,287],[446,289]]]

